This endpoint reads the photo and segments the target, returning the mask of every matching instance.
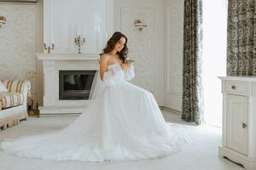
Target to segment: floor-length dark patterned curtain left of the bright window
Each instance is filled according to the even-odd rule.
[[[184,0],[182,119],[201,124],[202,0]]]

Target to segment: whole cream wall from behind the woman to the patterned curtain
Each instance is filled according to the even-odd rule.
[[[136,60],[133,81],[154,94],[160,106],[182,111],[183,0],[115,0],[114,29],[128,37]],[[140,19],[143,34],[133,26]]]

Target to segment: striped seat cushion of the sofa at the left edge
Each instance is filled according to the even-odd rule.
[[[24,96],[20,93],[0,93],[0,104],[2,109],[22,105],[24,103]],[[1,108],[1,107],[0,107]]]

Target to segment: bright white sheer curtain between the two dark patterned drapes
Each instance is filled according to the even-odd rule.
[[[204,122],[222,124],[222,94],[219,76],[226,74],[227,0],[203,0],[202,82]]]

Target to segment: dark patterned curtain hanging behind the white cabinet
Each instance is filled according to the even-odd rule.
[[[228,76],[256,75],[255,0],[229,0]]]

